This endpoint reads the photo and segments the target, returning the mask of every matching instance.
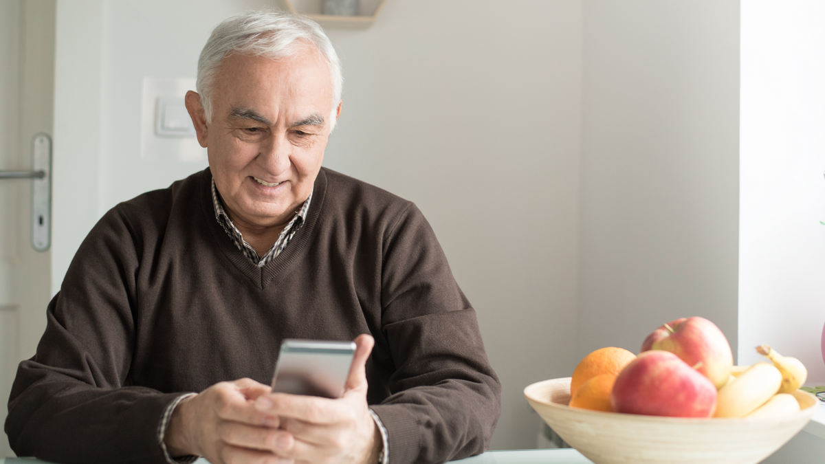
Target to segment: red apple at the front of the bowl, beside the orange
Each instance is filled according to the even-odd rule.
[[[646,351],[616,377],[610,407],[625,414],[711,417],[716,387],[675,354]]]

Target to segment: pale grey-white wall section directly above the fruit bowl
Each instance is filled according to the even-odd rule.
[[[578,358],[701,315],[737,349],[737,0],[584,2]]]

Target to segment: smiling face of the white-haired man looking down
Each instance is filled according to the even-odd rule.
[[[283,225],[312,192],[332,130],[332,76],[317,50],[272,60],[230,55],[211,90],[212,121],[186,95],[215,186],[240,226]]]

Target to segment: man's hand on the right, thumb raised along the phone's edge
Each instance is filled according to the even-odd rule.
[[[366,403],[365,363],[375,344],[370,335],[355,339],[356,353],[344,395],[337,400],[317,396],[271,393],[259,395],[255,407],[281,418],[283,435],[271,448],[296,463],[374,464],[381,435]]]

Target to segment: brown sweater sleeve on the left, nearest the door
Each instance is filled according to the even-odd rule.
[[[6,433],[18,456],[53,462],[166,462],[163,410],[179,394],[130,386],[139,238],[120,207],[93,228],[21,362]]]

